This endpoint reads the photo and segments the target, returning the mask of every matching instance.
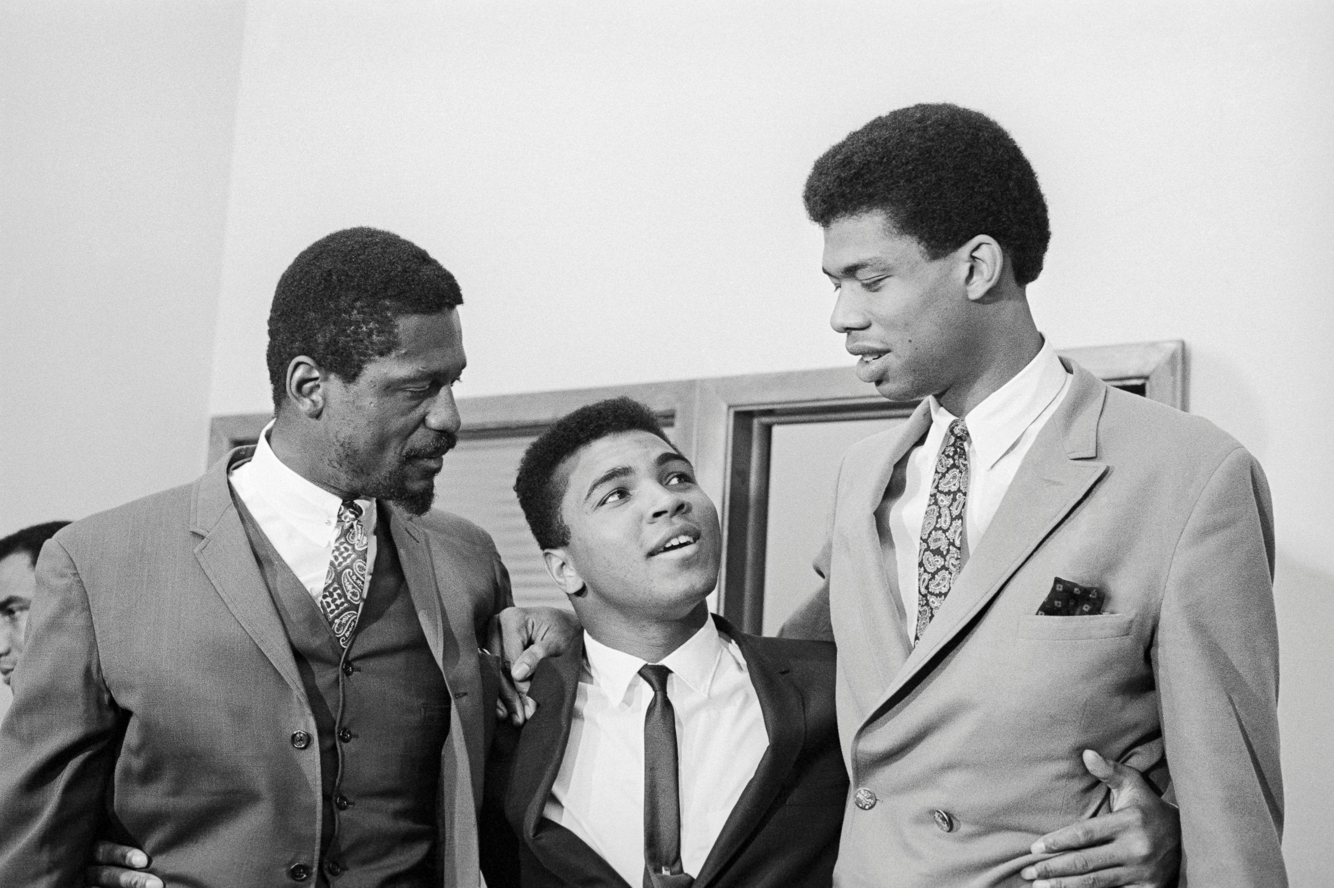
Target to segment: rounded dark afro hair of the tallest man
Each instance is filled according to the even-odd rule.
[[[850,133],[815,161],[803,200],[822,228],[882,211],[930,259],[990,235],[1021,287],[1042,272],[1051,240],[1047,201],[1019,145],[986,115],[951,104],[899,108]]]

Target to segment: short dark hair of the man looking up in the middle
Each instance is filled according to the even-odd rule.
[[[568,476],[560,467],[588,444],[622,432],[648,432],[676,449],[651,409],[630,397],[612,397],[566,413],[523,452],[514,492],[538,545],[570,544],[570,528],[560,517]]]

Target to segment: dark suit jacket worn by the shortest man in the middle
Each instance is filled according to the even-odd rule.
[[[828,885],[847,797],[834,715],[834,645],[756,637],[722,619],[718,624],[746,657],[764,715],[768,751],[696,873],[695,887]],[[508,820],[519,836],[520,867],[511,865],[508,873],[488,868],[491,888],[628,888],[579,837],[542,816],[564,760],[582,665],[582,641],[568,653],[544,660],[530,691],[538,703],[536,715],[518,736],[498,736],[487,772],[483,843],[492,844],[491,860],[514,859],[512,849],[496,847],[502,841],[499,829]],[[726,744],[727,737],[718,743]],[[680,767],[688,768],[690,763],[682,761]],[[498,813],[502,805],[503,817]]]

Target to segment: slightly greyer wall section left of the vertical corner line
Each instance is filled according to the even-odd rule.
[[[244,12],[0,3],[0,536],[199,473]]]

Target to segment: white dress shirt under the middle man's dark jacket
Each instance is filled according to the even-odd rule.
[[[644,660],[584,632],[570,741],[544,815],[584,840],[631,885],[644,875]],[[768,749],[768,732],[736,643],[707,620],[662,664],[676,713],[680,860],[699,875],[727,815]]]

